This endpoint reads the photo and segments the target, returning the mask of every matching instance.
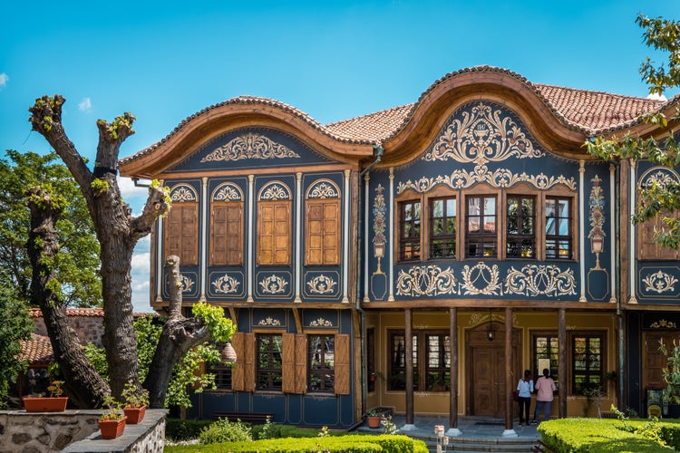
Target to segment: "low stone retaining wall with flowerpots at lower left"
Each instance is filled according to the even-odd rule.
[[[102,410],[28,413],[0,411],[0,452],[162,452],[167,410],[147,410],[138,425],[126,425],[118,439],[103,440]]]

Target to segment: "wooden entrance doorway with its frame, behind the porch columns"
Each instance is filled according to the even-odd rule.
[[[465,411],[469,415],[500,417],[505,414],[505,325],[493,322],[491,330],[494,332],[493,340],[487,336],[489,323],[481,323],[465,333]],[[521,333],[513,329],[512,370],[516,375],[521,372],[520,351]]]

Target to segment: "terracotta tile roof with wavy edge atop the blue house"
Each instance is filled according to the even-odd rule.
[[[304,120],[312,128],[340,142],[357,144],[374,144],[380,141],[390,140],[408,123],[413,115],[413,111],[421,101],[427,97],[437,86],[452,77],[468,72],[498,72],[512,77],[524,84],[535,92],[539,98],[546,103],[550,111],[569,129],[580,130],[586,135],[596,135],[611,130],[624,129],[639,121],[639,115],[656,111],[667,103],[677,101],[653,101],[646,98],[636,98],[633,96],[623,96],[607,92],[588,92],[573,88],[565,88],[554,85],[543,85],[529,82],[516,72],[492,66],[475,66],[450,72],[421,94],[418,101],[400,107],[393,107],[384,111],[376,111],[367,115],[350,118],[347,120],[335,121],[330,124],[320,124],[311,116],[303,111],[297,110],[284,102],[275,101],[267,98],[254,96],[238,96],[228,101],[211,105],[202,111],[198,111],[182,120],[180,124],[170,132],[165,138],[154,143],[149,148],[132,156],[120,159],[119,163],[124,164],[131,160],[140,159],[142,156],[150,154],[162,143],[181,130],[189,121],[209,113],[219,107],[230,104],[251,104],[273,106],[282,111],[287,111],[297,118]]]

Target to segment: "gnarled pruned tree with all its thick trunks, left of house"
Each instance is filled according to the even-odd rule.
[[[99,144],[94,169],[87,167],[87,162],[80,155],[73,142],[69,140],[63,129],[62,107],[65,99],[57,94],[53,98],[43,96],[35,100],[32,107],[30,121],[33,130],[39,132],[47,140],[53,149],[62,158],[73,178],[78,183],[83,198],[87,204],[92,224],[97,233],[100,243],[101,275],[102,275],[102,302],[104,310],[104,333],[102,343],[106,352],[108,364],[109,384],[114,397],[120,398],[121,392],[131,382],[140,389],[139,363],[137,361],[137,341],[132,325],[131,303],[131,259],[134,246],[137,242],[151,232],[151,226],[159,216],[164,215],[170,209],[169,189],[163,188],[158,181],[153,181],[149,188],[149,197],[142,208],[141,215],[132,217],[130,207],[125,204],[121,197],[121,189],[118,187],[116,174],[118,172],[118,155],[121,144],[131,134],[134,117],[130,112],[117,117],[112,123],[106,120],[97,120],[99,129]],[[34,210],[39,213],[47,201],[48,195],[36,194]],[[43,204],[41,204],[43,203]],[[53,208],[44,209],[44,224],[42,228],[33,227],[32,232],[37,239],[32,242],[34,250],[43,248],[40,254],[32,257],[34,276],[32,293],[39,294],[42,301],[41,309],[45,317],[53,319],[56,329],[50,332],[50,339],[55,350],[57,360],[64,368],[65,365],[79,370],[81,360],[78,357],[80,349],[72,341],[73,335],[63,330],[63,313],[61,304],[58,302],[58,294],[53,292],[54,280],[45,278],[53,273],[54,255],[53,238],[43,241],[40,234],[53,228],[50,225],[50,212]],[[37,216],[35,216],[37,217]],[[50,234],[45,235],[47,237]],[[45,260],[47,255],[49,260]],[[166,392],[170,382],[171,371],[177,361],[189,352],[193,347],[210,339],[212,335],[216,341],[226,341],[230,337],[233,326],[224,319],[223,314],[219,318],[209,310],[203,315],[185,318],[181,315],[181,290],[179,259],[170,256],[169,261],[177,265],[170,266],[173,280],[170,284],[170,293],[180,294],[180,304],[176,303],[177,296],[170,297],[170,316],[163,326],[160,341],[151,360],[150,372],[144,380],[144,388],[149,390],[150,407],[162,407],[166,400]],[[37,269],[37,271],[36,271]],[[221,311],[221,310],[220,310]],[[47,312],[47,313],[46,313]],[[57,351],[61,352],[57,354]],[[80,353],[83,353],[82,350]],[[84,354],[83,354],[84,356]],[[69,361],[68,358],[72,360]],[[88,362],[89,364],[89,362]],[[92,376],[96,375],[96,377]],[[78,389],[81,384],[101,380],[96,371],[71,374],[72,378],[83,378],[82,382],[72,382],[69,375],[65,376],[67,385],[75,384],[73,389]],[[92,390],[94,386],[92,386]],[[102,389],[102,392],[104,392]],[[91,393],[92,395],[92,393]],[[95,404],[100,403],[92,399]]]

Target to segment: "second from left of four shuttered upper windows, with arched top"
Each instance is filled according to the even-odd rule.
[[[243,193],[235,184],[215,189],[210,203],[210,265],[243,264]]]

